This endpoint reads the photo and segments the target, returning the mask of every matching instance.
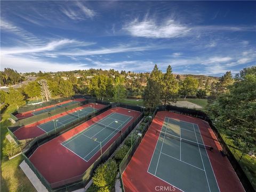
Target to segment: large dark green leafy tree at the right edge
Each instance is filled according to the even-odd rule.
[[[237,78],[229,86],[230,91],[219,95],[208,107],[208,113],[216,118],[217,128],[233,139],[242,156],[256,147],[256,74],[251,71],[242,70],[238,75],[242,78]]]

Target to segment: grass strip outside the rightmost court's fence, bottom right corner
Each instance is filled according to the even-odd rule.
[[[221,130],[219,130],[221,133]],[[242,155],[242,151],[235,147],[233,140],[229,139],[225,134],[221,134],[221,137],[226,142],[228,148],[230,149],[231,153],[233,153],[234,157],[239,161]],[[240,160],[239,164],[241,165],[242,169],[244,170],[245,174],[251,181],[254,189],[256,189],[256,158],[251,157],[250,155],[243,155],[242,159]]]

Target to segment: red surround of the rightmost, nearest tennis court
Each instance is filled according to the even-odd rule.
[[[175,114],[168,111],[159,111],[123,173],[122,178],[125,192],[161,191],[157,186],[165,186],[169,187],[169,189],[174,188],[165,181],[147,172],[150,159],[158,140],[156,130],[161,130],[165,117],[198,124],[205,145],[210,145],[214,148],[213,151],[207,150],[207,154],[209,155],[220,191],[244,191],[227,157],[223,157],[219,152],[221,146],[207,122],[191,116]],[[175,191],[180,190],[175,188]]]

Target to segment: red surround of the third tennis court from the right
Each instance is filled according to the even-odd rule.
[[[95,103],[94,103],[95,104]],[[83,109],[85,107],[90,107],[91,105],[93,105],[93,103],[87,103],[86,105],[83,105],[81,107],[77,107],[77,108],[74,108],[74,109],[71,109],[68,111],[68,113],[73,113],[74,111],[76,110],[79,110],[79,109]],[[95,109],[101,109],[103,107],[105,107],[104,105],[101,105],[101,104],[98,104],[98,105],[94,105],[93,107],[95,107]],[[19,140],[22,140],[22,139],[31,139],[31,138],[35,138],[35,137],[38,137],[42,134],[44,134],[45,132],[40,129],[39,127],[37,127],[37,125],[41,125],[43,123],[46,123],[46,122],[49,122],[49,121],[52,121],[53,119],[56,119],[56,118],[59,118],[59,117],[62,117],[62,116],[65,116],[65,115],[68,115],[68,113],[63,112],[61,114],[57,114],[57,115],[54,115],[52,117],[49,117],[49,118],[46,118],[46,119],[43,119],[41,121],[38,121],[38,122],[35,122],[33,124],[29,124],[29,125],[25,125],[25,126],[22,126],[20,127],[18,130],[14,131],[14,135],[17,137],[17,139]]]

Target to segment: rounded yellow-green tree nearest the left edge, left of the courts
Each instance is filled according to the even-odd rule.
[[[22,105],[26,104],[24,101],[25,97],[18,90],[14,90],[12,87],[9,88],[9,92],[6,97],[6,103],[9,105],[14,105],[19,108]]]

